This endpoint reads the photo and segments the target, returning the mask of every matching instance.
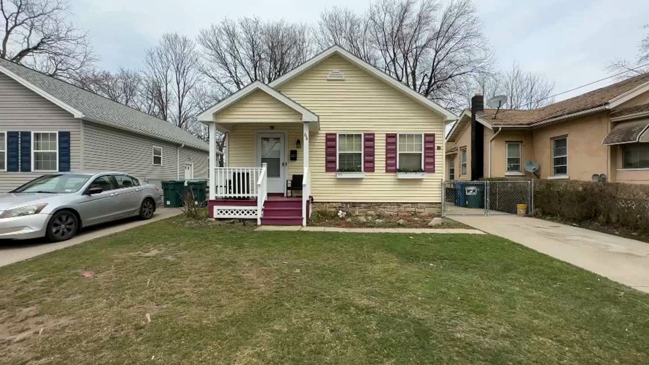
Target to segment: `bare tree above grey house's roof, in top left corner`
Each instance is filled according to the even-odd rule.
[[[0,0],[0,58],[75,80],[96,57],[88,32],[67,21],[65,0]]]

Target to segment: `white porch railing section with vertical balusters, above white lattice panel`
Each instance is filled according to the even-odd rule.
[[[257,197],[259,194],[258,181],[262,175],[262,170],[263,167],[214,168],[215,197],[221,199],[228,197]]]

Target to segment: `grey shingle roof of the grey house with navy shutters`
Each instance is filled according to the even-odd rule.
[[[208,145],[175,125],[31,68],[0,58],[0,72],[70,112],[75,118],[208,151]]]

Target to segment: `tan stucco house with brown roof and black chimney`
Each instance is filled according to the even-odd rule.
[[[649,73],[534,110],[472,99],[446,138],[447,180],[533,177],[649,183]]]

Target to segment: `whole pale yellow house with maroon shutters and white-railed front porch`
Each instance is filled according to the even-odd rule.
[[[225,132],[210,216],[306,225],[311,210],[439,212],[444,127],[456,116],[334,46],[199,116]],[[215,166],[210,162],[210,166]]]

